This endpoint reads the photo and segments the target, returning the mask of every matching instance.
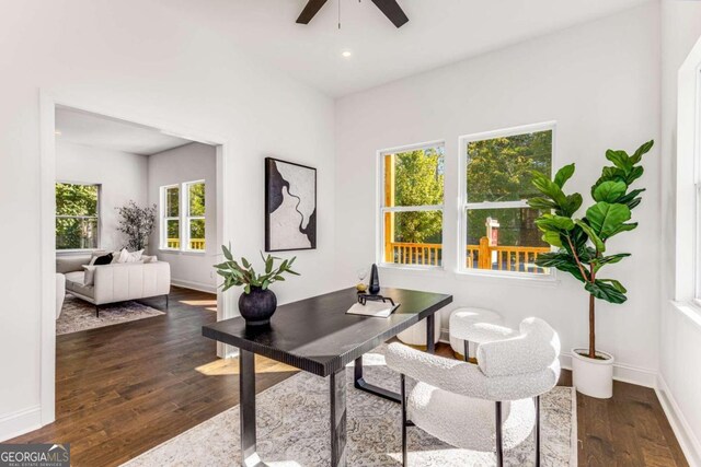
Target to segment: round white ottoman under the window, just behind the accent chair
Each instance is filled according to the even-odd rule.
[[[461,307],[450,313],[448,324],[450,332],[450,347],[453,352],[462,352],[464,361],[470,360],[470,343],[475,348],[480,343],[493,340],[492,336],[483,336],[481,332],[472,332],[475,324],[491,324],[502,326],[504,318],[496,312],[484,308]],[[504,328],[507,329],[507,328]],[[508,329],[510,331],[510,329]]]

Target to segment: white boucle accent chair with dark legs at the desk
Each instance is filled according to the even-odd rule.
[[[522,443],[536,430],[540,465],[540,395],[560,377],[560,338],[542,319],[527,318],[515,335],[478,348],[478,364],[414,350],[399,342],[388,348],[389,367],[400,373],[402,458],[406,466],[406,427],[415,425],[453,446],[496,451]],[[405,376],[417,383],[406,397]]]

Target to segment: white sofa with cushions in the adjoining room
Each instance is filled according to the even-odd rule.
[[[164,261],[123,262],[94,267],[92,284],[85,284],[83,265],[90,257],[59,257],[57,272],[66,276],[66,291],[95,305],[165,295],[171,290],[171,267]],[[166,302],[168,303],[168,302]]]

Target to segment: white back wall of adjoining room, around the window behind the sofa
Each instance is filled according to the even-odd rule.
[[[124,246],[117,231],[119,214],[115,208],[130,200],[146,206],[147,156],[110,151],[82,144],[56,142],[56,180],[102,185],[100,191],[100,248],[114,250]]]

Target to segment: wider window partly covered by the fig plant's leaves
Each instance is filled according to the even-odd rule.
[[[550,246],[527,200],[539,195],[531,171],[552,173],[553,131],[547,124],[460,138],[459,270],[550,273],[536,266]]]

